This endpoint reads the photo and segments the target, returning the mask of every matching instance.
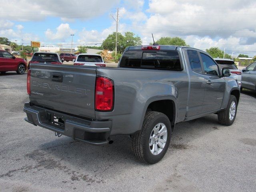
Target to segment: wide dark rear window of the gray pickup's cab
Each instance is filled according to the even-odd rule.
[[[128,50],[122,56],[120,67],[182,70],[179,53],[173,50]]]

